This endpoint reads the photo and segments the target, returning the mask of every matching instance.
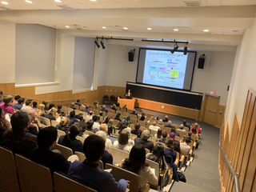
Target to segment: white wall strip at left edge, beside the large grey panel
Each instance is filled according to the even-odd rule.
[[[0,22],[0,82],[15,82],[15,23]]]

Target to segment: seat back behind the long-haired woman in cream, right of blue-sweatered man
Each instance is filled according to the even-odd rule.
[[[105,169],[112,169],[111,174],[113,175],[116,181],[119,181],[121,178],[130,181],[130,191],[139,191],[138,174],[134,174],[118,166],[110,165],[109,163],[106,163]]]

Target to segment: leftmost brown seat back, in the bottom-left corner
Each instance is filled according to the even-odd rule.
[[[14,154],[0,146],[0,191],[20,191]]]

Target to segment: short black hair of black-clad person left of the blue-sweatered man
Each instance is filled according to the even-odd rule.
[[[47,126],[38,133],[38,148],[48,149],[57,140],[58,131],[54,126]]]

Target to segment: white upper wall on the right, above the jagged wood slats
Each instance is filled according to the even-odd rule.
[[[242,121],[247,90],[256,90],[256,18],[252,26],[243,34],[242,43],[238,47],[234,70],[232,73],[230,94],[226,108],[226,122],[230,122],[232,129],[234,114]]]

